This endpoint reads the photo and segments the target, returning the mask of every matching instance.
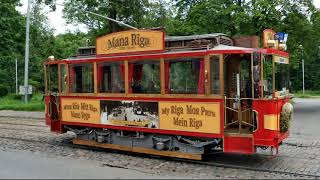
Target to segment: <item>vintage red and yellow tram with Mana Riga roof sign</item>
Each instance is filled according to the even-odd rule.
[[[288,137],[289,58],[275,32],[168,36],[130,30],[44,63],[46,123],[73,143],[200,160]]]

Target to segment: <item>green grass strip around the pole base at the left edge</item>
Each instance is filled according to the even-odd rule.
[[[33,94],[28,103],[24,103],[20,95],[9,94],[0,98],[0,110],[44,111],[42,94]]]

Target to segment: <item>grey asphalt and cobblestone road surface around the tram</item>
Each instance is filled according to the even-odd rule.
[[[246,165],[268,170],[317,175],[320,177],[320,99],[294,98],[294,116],[290,136],[280,147],[279,157],[217,154],[213,161],[231,165]],[[42,112],[0,111],[2,122],[42,122]],[[9,117],[21,118],[9,118]],[[29,117],[22,118],[22,117]],[[33,121],[32,118],[40,118]],[[0,118],[1,119],[1,118]],[[13,121],[13,122],[12,122]],[[2,125],[2,136],[23,137],[56,142],[63,136],[54,135],[43,127],[26,126],[25,131],[10,130],[15,126]],[[0,126],[1,127],[1,126]],[[5,129],[9,128],[9,129]],[[34,132],[33,129],[38,130]],[[21,132],[20,132],[21,131]],[[60,138],[59,138],[60,137]],[[34,153],[37,152],[37,153]],[[126,156],[118,153],[90,151],[52,146],[46,143],[21,142],[0,138],[0,178],[298,178],[268,172],[245,171],[200,166],[162,159]],[[4,163],[5,162],[5,163]],[[101,164],[110,163],[124,168]],[[118,166],[117,166],[118,167]],[[135,169],[139,169],[136,171]],[[152,172],[149,174],[147,172]],[[263,175],[264,174],[264,175]],[[305,177],[300,177],[305,178]]]

